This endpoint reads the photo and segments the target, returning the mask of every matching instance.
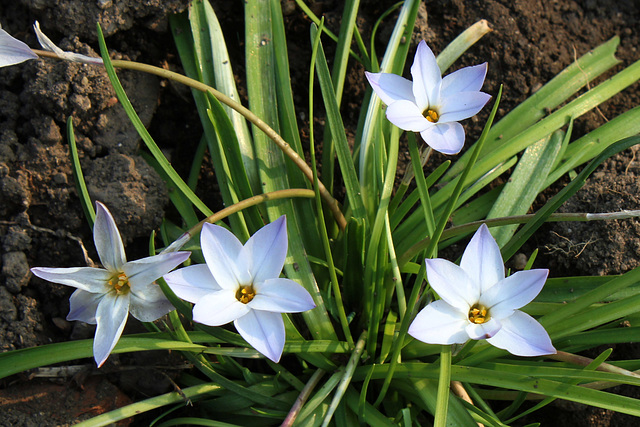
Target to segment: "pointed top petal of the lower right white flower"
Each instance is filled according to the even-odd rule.
[[[504,279],[500,248],[485,224],[478,228],[464,250],[460,267],[478,283],[482,294]]]

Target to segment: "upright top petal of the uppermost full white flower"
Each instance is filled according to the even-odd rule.
[[[416,56],[411,65],[411,76],[413,77],[413,96],[421,112],[429,106],[438,104],[442,72],[435,55],[424,40],[418,44]]]

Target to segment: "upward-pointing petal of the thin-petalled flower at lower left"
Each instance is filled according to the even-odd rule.
[[[127,262],[122,238],[111,212],[100,202],[96,202],[93,241],[104,268],[112,273],[121,271],[122,266]]]

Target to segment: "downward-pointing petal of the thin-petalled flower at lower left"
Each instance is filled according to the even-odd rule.
[[[107,360],[117,344],[129,315],[129,296],[105,295],[96,312],[96,336],[93,339],[93,358],[98,368]]]

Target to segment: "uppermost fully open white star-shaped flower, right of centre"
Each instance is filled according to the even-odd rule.
[[[457,154],[464,145],[464,128],[458,121],[472,117],[491,96],[480,92],[487,63],[462,68],[442,78],[427,43],[418,44],[411,66],[413,82],[396,74],[365,72],[371,87],[387,104],[391,123],[412,132],[434,150]]]

